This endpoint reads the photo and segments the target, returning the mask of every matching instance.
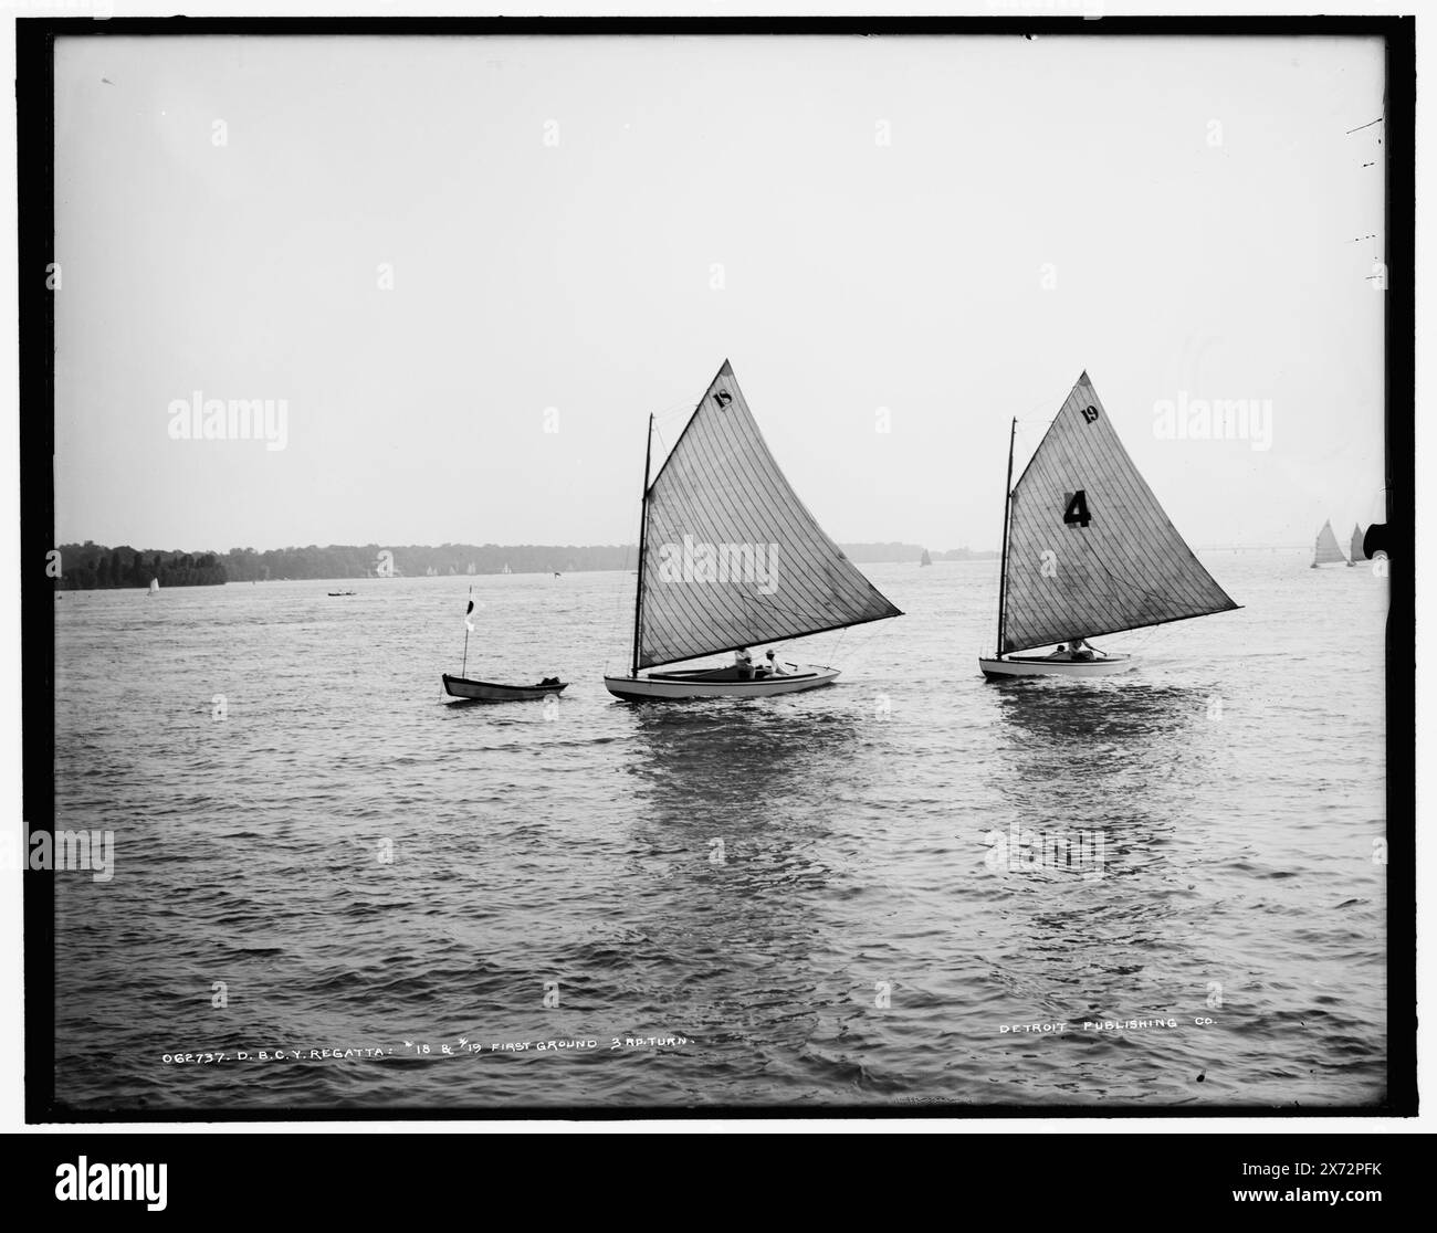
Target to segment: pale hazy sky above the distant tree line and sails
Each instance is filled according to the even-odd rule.
[[[62,39],[56,537],[634,542],[729,358],[838,540],[996,548],[1086,369],[1190,542],[1345,542],[1381,106],[1328,37]]]

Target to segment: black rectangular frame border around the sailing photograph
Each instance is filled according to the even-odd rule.
[[[1081,36],[1081,37],[1375,37],[1385,43],[1384,418],[1390,608],[1387,618],[1387,1096],[1375,1105],[1168,1105],[884,1108],[812,1107],[504,1107],[283,1108],[270,1111],[76,1109],[55,1096],[55,885],[24,869],[24,1121],[631,1121],[708,1118],[1232,1118],[1415,1117],[1417,1114],[1417,799],[1415,799],[1415,23],[1405,16],[1332,17],[20,17],[16,20],[16,162],[19,184],[19,434],[22,639],[22,849],[30,819],[55,818],[55,601],[42,562],[55,546],[55,302],[46,264],[55,237],[55,40],[125,36]],[[30,414],[26,414],[27,410]],[[1395,654],[1394,654],[1395,652]],[[1415,661],[1415,650],[1413,650]]]

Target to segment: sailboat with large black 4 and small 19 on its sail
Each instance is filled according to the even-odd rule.
[[[1088,374],[1013,484],[1007,445],[997,651],[989,680],[1101,677],[1132,667],[1085,639],[1237,608],[1168,522]],[[1046,655],[1019,655],[1061,644]]]

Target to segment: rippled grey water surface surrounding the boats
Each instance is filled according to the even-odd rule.
[[[629,575],[474,579],[470,674],[572,681],[503,707],[441,701],[467,578],[62,595],[57,1095],[1374,1102],[1387,582],[1204,562],[1244,609],[1125,677],[984,684],[996,562],[877,565],[907,616],[790,648],[838,685],[648,707]]]

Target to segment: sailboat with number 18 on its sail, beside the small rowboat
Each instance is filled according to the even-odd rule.
[[[759,433],[729,361],[710,382],[658,474],[644,453],[634,651],[627,700],[767,697],[832,684],[839,670],[779,662],[747,648],[902,614],[803,507]],[[650,673],[734,652],[720,668]]]

